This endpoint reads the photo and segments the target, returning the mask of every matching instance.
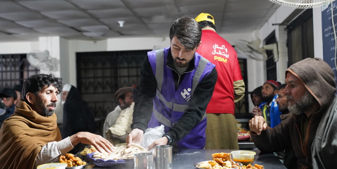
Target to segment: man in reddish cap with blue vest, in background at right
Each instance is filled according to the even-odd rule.
[[[262,100],[259,107],[253,108],[253,116],[262,116],[270,127],[277,126],[280,122],[281,111],[275,102],[277,98],[277,88],[279,83],[274,80],[267,80],[262,86]]]

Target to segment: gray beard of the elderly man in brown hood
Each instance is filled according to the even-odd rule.
[[[287,97],[288,98],[288,97]],[[289,97],[291,98],[291,97]],[[292,112],[295,115],[301,115],[303,112],[307,109],[309,109],[314,103],[315,98],[312,96],[309,91],[306,91],[304,96],[295,104],[288,105],[288,109],[290,112]]]

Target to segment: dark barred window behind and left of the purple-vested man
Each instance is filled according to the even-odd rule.
[[[117,106],[114,93],[138,85],[143,59],[150,50],[79,52],[77,87],[96,118],[105,118]]]

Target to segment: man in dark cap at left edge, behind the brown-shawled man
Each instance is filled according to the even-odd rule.
[[[16,93],[13,89],[5,88],[0,92],[0,98],[3,99],[3,103],[6,105],[6,111],[0,116],[0,128],[4,121],[14,114],[14,108],[16,105]]]

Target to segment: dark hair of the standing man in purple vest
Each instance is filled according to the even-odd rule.
[[[193,50],[201,40],[201,27],[196,20],[188,17],[178,18],[170,29],[170,39],[176,36],[186,50]]]

